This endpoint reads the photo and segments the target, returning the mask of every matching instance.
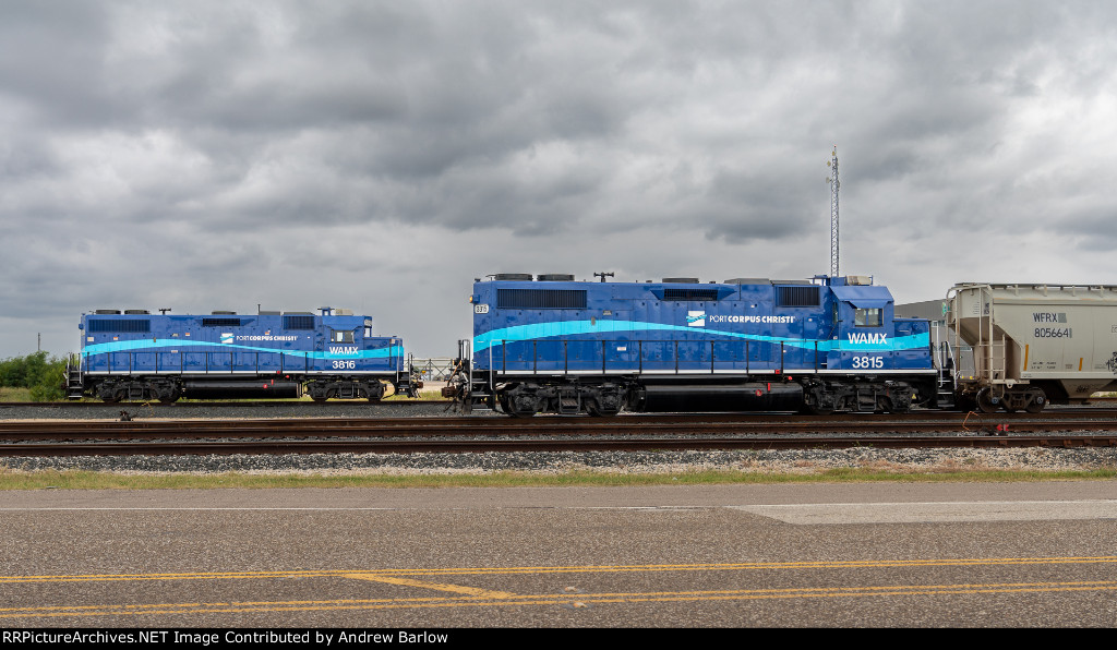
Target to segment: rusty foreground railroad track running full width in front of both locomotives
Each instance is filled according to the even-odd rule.
[[[0,422],[0,456],[1113,447],[1117,418],[504,417]],[[1008,427],[1005,427],[1008,424]]]

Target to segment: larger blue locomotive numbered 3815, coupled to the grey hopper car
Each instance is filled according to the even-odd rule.
[[[891,294],[868,277],[490,277],[474,284],[474,337],[445,391],[467,409],[827,413],[935,401],[928,322],[894,317]]]

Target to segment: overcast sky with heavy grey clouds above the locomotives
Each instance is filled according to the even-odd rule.
[[[0,357],[472,278],[1117,284],[1117,3],[0,2]]]

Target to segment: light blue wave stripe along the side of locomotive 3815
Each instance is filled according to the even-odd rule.
[[[704,327],[687,327],[682,325],[667,325],[663,323],[640,323],[634,321],[598,321],[592,324],[590,321],[562,321],[553,323],[533,323],[531,325],[515,325],[493,329],[474,337],[474,351],[487,350],[489,346],[500,345],[507,341],[515,343],[519,341],[532,341],[536,338],[554,338],[560,336],[577,336],[580,334],[602,334],[618,333],[626,338],[637,338],[640,332],[686,332],[688,334],[705,334],[710,336],[725,336],[727,338],[741,338],[747,341],[762,341],[767,343],[783,343],[790,347],[803,347],[814,350],[813,338],[789,338],[785,336],[764,336],[761,334],[743,334],[739,332],[725,332],[723,329],[709,329]],[[884,344],[879,342],[852,343],[842,340],[818,341],[818,348],[823,352],[897,352],[901,350],[913,350],[927,347],[930,345],[930,334],[913,334],[900,336],[899,338],[887,338]]]

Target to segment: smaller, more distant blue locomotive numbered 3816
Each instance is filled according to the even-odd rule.
[[[238,315],[84,314],[70,398],[107,402],[179,398],[330,398],[375,401],[392,384],[416,395],[403,342],[373,336],[372,318],[345,309]]]

